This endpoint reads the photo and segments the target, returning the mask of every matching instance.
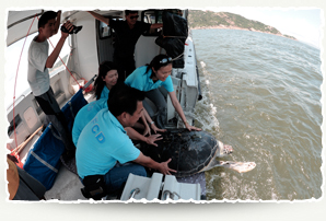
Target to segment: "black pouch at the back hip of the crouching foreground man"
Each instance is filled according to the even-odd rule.
[[[84,188],[81,189],[81,193],[88,199],[101,200],[107,195],[103,175],[85,176],[83,184]]]

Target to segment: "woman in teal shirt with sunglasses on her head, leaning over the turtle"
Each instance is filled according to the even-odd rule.
[[[156,123],[160,128],[164,128],[166,124],[166,101],[159,88],[164,86],[171,97],[175,111],[181,116],[188,130],[200,130],[187,123],[184,111],[178,103],[171,79],[172,59],[166,55],[155,56],[150,65],[137,68],[125,81],[131,88],[147,92],[145,96],[151,100],[158,107],[159,114]],[[144,107],[148,105],[144,103]],[[148,118],[148,117],[147,117]],[[151,125],[153,121],[151,120]]]

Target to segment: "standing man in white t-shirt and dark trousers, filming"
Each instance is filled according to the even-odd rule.
[[[59,132],[65,143],[67,151],[62,156],[71,158],[74,155],[75,147],[68,130],[65,115],[55,98],[48,73],[48,68],[53,68],[62,49],[65,40],[69,36],[69,32],[73,30],[73,25],[69,21],[66,22],[63,26],[69,32],[61,32],[58,44],[53,53],[48,55],[49,45],[47,38],[58,33],[60,18],[61,11],[46,11],[39,18],[37,26],[38,35],[32,40],[28,49],[27,81],[39,107]]]

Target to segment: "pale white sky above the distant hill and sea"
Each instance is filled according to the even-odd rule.
[[[214,8],[216,12],[231,12],[246,19],[259,21],[276,27],[282,34],[291,35],[321,48],[322,25],[325,21],[324,13],[317,8]]]

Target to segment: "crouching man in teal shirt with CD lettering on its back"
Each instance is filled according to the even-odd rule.
[[[176,172],[167,165],[171,159],[158,163],[143,155],[132,144],[124,129],[132,127],[142,115],[143,98],[143,92],[127,85],[110,91],[108,109],[98,112],[84,127],[78,140],[75,162],[78,174],[82,179],[101,175],[104,177],[105,190],[110,193],[121,188],[129,173],[147,176],[143,166],[163,174]],[[125,164],[127,162],[132,163]]]

